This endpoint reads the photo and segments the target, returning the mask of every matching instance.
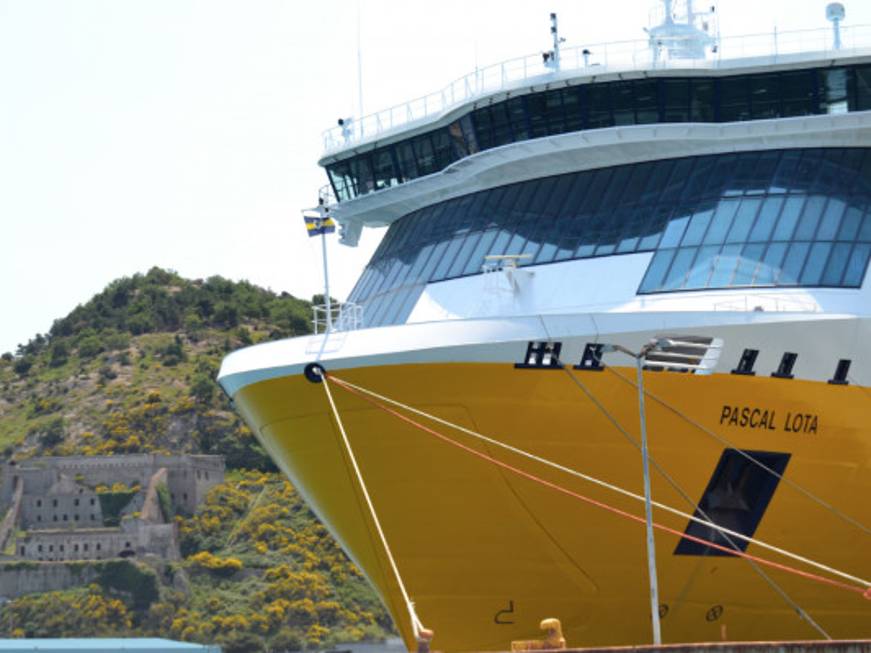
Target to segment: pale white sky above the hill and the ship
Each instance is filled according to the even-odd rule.
[[[720,27],[825,27],[825,4],[721,0]],[[548,49],[551,11],[572,45],[643,38],[652,6],[362,0],[364,109]],[[0,0],[0,352],[153,265],[321,292],[299,210],[326,183],[321,132],[356,104],[355,0]],[[333,295],[382,233],[331,244]]]

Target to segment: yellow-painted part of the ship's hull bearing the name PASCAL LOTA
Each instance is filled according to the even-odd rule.
[[[633,438],[638,434],[630,369],[573,372]],[[641,492],[638,450],[565,371],[507,364],[431,363],[336,372],[502,442]],[[855,386],[746,377],[646,373],[653,395],[735,447],[791,454],[785,478],[852,519],[871,523],[871,392]],[[444,651],[504,650],[562,620],[570,646],[650,641],[643,526],[518,477],[439,441],[332,384],[366,484],[421,621]],[[363,504],[323,386],[302,375],[261,381],[235,396],[274,459],[367,574],[412,644],[407,612]],[[755,428],[730,410],[758,408]],[[761,411],[769,420],[759,426]],[[772,414],[773,413],[773,414]],[[787,431],[787,414],[815,416],[815,432]],[[723,423],[721,423],[721,420]],[[653,458],[698,501],[727,444],[661,404],[648,402]],[[771,427],[774,428],[771,428]],[[437,430],[549,481],[637,515],[643,506],[565,474]],[[692,512],[653,473],[654,499]],[[687,521],[655,511],[680,531]],[[871,577],[869,535],[781,482],[755,537],[859,577]],[[666,642],[813,639],[747,561],[675,555],[679,538],[657,533]],[[776,558],[750,545],[749,553]],[[784,561],[782,558],[780,561]],[[769,571],[835,638],[871,637],[871,601]]]

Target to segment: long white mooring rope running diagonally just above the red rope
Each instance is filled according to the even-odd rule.
[[[608,483],[607,481],[603,481],[603,480],[598,479],[594,476],[584,474],[583,472],[579,472],[575,469],[572,469],[571,467],[566,467],[565,465],[560,465],[559,463],[555,463],[552,460],[548,460],[547,458],[542,458],[541,456],[537,456],[533,453],[529,453],[528,451],[524,451],[523,449],[518,449],[517,447],[513,447],[510,444],[505,444],[504,442],[500,442],[499,440],[495,440],[495,439],[490,438],[490,437],[483,435],[481,433],[476,433],[475,431],[467,429],[463,426],[459,426],[458,424],[454,424],[454,423],[449,422],[447,420],[444,420],[440,417],[436,417],[435,415],[430,415],[429,413],[426,413],[422,410],[418,410],[417,408],[414,408],[413,406],[408,406],[407,404],[403,404],[402,402],[396,401],[394,399],[390,399],[389,397],[385,397],[384,395],[380,395],[377,392],[373,392],[372,390],[367,390],[366,388],[362,388],[358,385],[350,383],[349,381],[345,381],[344,379],[339,379],[336,377],[336,381],[338,381],[344,385],[347,385],[350,388],[354,388],[355,390],[363,392],[363,393],[365,393],[371,397],[374,397],[380,401],[384,401],[386,403],[392,404],[398,408],[402,408],[403,410],[407,410],[410,413],[414,413],[415,415],[425,417],[426,419],[432,420],[433,422],[436,422],[436,423],[441,424],[443,426],[447,426],[449,428],[455,429],[457,431],[460,431],[461,433],[465,433],[466,435],[469,435],[473,438],[477,438],[479,440],[487,442],[488,444],[492,444],[494,446],[501,447],[502,449],[505,449],[507,451],[511,451],[512,453],[515,453],[515,454],[522,456],[524,458],[528,458],[528,459],[533,460],[537,463],[541,463],[542,465],[552,467],[553,469],[557,469],[561,472],[569,474],[570,476],[575,476],[577,478],[580,478],[580,479],[587,481],[589,483],[592,483],[594,485],[598,485],[598,486],[603,487],[605,489],[611,490],[612,492],[616,492],[618,494],[622,494],[623,496],[635,499],[636,501],[641,501],[641,502],[644,501],[644,497],[641,496],[640,494],[635,494],[634,492],[630,492],[629,490],[625,490],[625,489],[621,488],[620,486],[613,485],[612,483]],[[672,508],[671,506],[664,504],[664,503],[660,503],[659,501],[651,501],[651,503],[652,503],[652,505],[656,506],[657,508],[660,508],[661,510],[664,510],[666,512],[670,512],[674,515],[678,515],[680,517],[683,517],[684,519],[689,519],[690,521],[693,521],[693,522],[700,524],[702,526],[706,526],[708,528],[712,528],[720,533],[725,533],[731,537],[736,537],[736,538],[744,540],[745,542],[748,542],[750,544],[755,544],[763,549],[768,549],[769,551],[779,553],[780,555],[785,556],[787,558],[791,558],[791,559],[796,560],[798,562],[802,562],[806,565],[810,565],[811,567],[815,567],[821,571],[828,572],[828,573],[833,574],[835,576],[839,576],[845,580],[849,580],[849,581],[852,581],[854,583],[858,583],[858,584],[863,585],[865,587],[871,588],[871,582],[864,580],[862,578],[859,578],[857,576],[853,576],[851,574],[840,571],[838,569],[834,569],[833,567],[829,567],[829,566],[824,565],[820,562],[816,562],[816,561],[811,560],[809,558],[805,558],[804,556],[798,555],[797,553],[792,553],[791,551],[781,549],[780,547],[774,546],[772,544],[767,544],[766,542],[763,542],[762,540],[748,537],[748,536],[744,535],[743,533],[739,533],[737,531],[733,531],[733,530],[730,530],[728,528],[724,528],[723,526],[720,526],[719,524],[715,524],[714,522],[706,521],[704,519],[699,519],[695,515],[691,515],[689,513],[683,512],[682,510],[678,510],[677,508]]]

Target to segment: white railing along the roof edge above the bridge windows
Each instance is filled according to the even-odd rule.
[[[871,25],[856,25],[841,28],[841,47],[837,50],[833,46],[832,30],[818,28],[721,38],[716,52],[706,59],[669,59],[665,49],[654,52],[648,40],[561,48],[559,70],[546,64],[541,53],[530,54],[479,68],[435,93],[363,118],[346,119],[344,125],[324,132],[324,156],[408,128],[482,95],[508,90],[532,80],[556,80],[578,73],[602,75],[633,70],[740,68],[758,65],[760,58],[771,63],[783,57],[790,60],[803,58],[796,55],[806,55],[807,59],[828,59],[854,56],[869,49]]]

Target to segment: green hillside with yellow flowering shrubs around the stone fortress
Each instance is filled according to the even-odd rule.
[[[228,470],[196,515],[175,518],[181,563],[101,566],[93,584],[7,604],[0,633],[169,634],[232,652],[390,632],[372,590],[214,382],[225,353],[308,333],[310,314],[308,302],[247,282],[154,268],[112,282],[0,357],[5,460],[212,453]]]

